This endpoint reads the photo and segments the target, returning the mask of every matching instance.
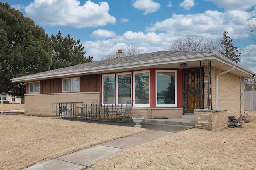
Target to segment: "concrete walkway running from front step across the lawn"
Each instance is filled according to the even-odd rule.
[[[114,141],[102,143],[56,159],[39,162],[38,164],[25,168],[25,170],[82,170],[104,160],[105,158],[108,158],[113,154],[122,152],[123,150],[136,145],[192,128],[188,126],[141,125],[149,130]],[[165,129],[168,130],[166,131]]]

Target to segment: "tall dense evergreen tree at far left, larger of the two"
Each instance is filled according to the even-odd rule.
[[[42,27],[7,2],[0,2],[0,16],[0,93],[23,97],[26,83],[10,79],[49,70],[50,39]]]

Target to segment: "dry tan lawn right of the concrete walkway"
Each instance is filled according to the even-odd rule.
[[[255,112],[248,112],[256,115]],[[255,119],[255,117],[254,117]],[[94,170],[256,169],[256,121],[222,131],[189,129],[115,154]]]

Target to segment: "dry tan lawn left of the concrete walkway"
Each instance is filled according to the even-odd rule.
[[[45,158],[56,158],[145,130],[50,117],[0,114],[0,169],[18,170]]]

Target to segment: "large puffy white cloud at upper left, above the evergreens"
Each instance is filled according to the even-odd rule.
[[[115,24],[116,18],[108,14],[107,2],[78,0],[34,0],[25,8],[26,16],[42,25],[69,26],[76,28],[98,27]]]

